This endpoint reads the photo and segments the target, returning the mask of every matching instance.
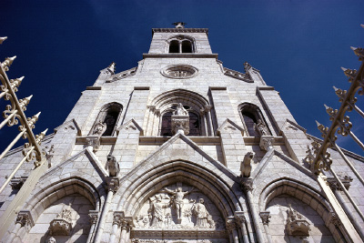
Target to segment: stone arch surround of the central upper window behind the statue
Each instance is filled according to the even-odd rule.
[[[200,94],[186,89],[170,90],[156,96],[151,106],[148,106],[148,125],[146,133],[149,136],[162,135],[163,118],[170,116],[174,106],[181,103],[187,108],[190,116],[190,127],[197,127],[196,136],[213,136],[213,121],[210,114],[211,106],[207,99]],[[192,120],[195,122],[193,124]],[[167,122],[166,122],[167,123]]]

